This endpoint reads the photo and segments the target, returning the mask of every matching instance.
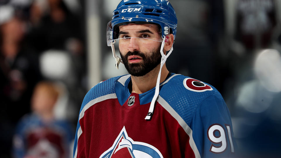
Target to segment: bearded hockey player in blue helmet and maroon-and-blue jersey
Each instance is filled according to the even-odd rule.
[[[107,25],[107,44],[116,68],[124,63],[130,75],[100,82],[87,93],[73,157],[233,157],[232,123],[220,93],[165,66],[176,27],[167,0],[119,3]]]

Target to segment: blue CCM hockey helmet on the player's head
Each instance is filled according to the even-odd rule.
[[[108,46],[111,46],[112,41],[118,38],[119,27],[117,26],[128,23],[157,24],[160,26],[163,39],[169,33],[174,35],[174,39],[176,37],[177,17],[168,0],[122,0],[113,11],[112,21],[107,24]]]

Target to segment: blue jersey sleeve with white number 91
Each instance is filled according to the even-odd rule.
[[[235,157],[229,110],[221,95],[205,98],[191,121],[192,136],[201,157]]]

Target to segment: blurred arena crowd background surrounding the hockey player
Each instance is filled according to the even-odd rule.
[[[280,157],[281,1],[170,2],[178,33],[168,70],[222,94],[238,157]],[[118,3],[0,0],[1,158],[71,157],[85,94],[127,74],[106,44]]]

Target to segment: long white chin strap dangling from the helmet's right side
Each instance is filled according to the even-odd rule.
[[[161,77],[161,70],[162,70],[162,67],[164,65],[164,63],[166,62],[167,58],[169,57],[169,55],[172,53],[173,51],[173,45],[172,45],[172,48],[171,50],[167,53],[167,55],[165,55],[163,53],[163,48],[164,48],[164,45],[165,45],[165,38],[161,44],[161,49],[160,49],[160,53],[162,55],[162,58],[161,58],[161,64],[160,64],[160,70],[159,70],[159,73],[158,73],[158,77],[157,77],[157,82],[156,82],[156,88],[155,88],[155,94],[152,98],[152,101],[150,103],[150,107],[149,107],[149,110],[148,110],[148,114],[146,115],[145,119],[147,121],[150,121],[151,120],[151,117],[153,115],[153,112],[154,112],[154,106],[155,106],[155,101],[156,99],[158,98],[158,95],[159,95],[159,86],[160,86],[160,77]]]

